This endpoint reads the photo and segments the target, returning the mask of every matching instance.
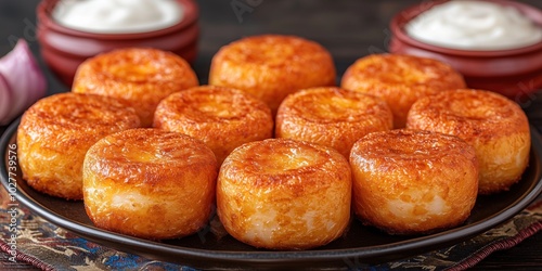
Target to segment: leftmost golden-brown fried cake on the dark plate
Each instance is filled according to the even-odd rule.
[[[137,128],[136,111],[92,94],[62,93],[34,104],[17,129],[18,162],[34,189],[82,199],[82,160],[87,150],[113,132]]]

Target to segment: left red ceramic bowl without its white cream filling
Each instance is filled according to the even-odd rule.
[[[192,63],[197,53],[198,9],[193,0],[177,0],[184,7],[178,24],[160,30],[137,34],[95,34],[57,24],[51,12],[60,0],[43,0],[37,8],[38,41],[41,55],[67,86],[72,86],[79,64],[102,52],[128,47],[151,47],[171,51]]]

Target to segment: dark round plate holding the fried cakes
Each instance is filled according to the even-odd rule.
[[[467,221],[457,228],[423,236],[391,236],[363,227],[353,220],[339,240],[312,250],[271,251],[244,245],[231,236],[215,236],[209,228],[180,240],[152,242],[95,228],[87,217],[82,202],[67,202],[34,191],[21,179],[13,163],[18,121],[12,124],[0,140],[0,176],[4,186],[16,183],[17,199],[50,222],[98,244],[144,257],[203,269],[354,268],[397,260],[459,243],[489,230],[529,205],[542,191],[542,140],[532,127],[530,165],[511,191],[480,196]],[[10,152],[11,150],[11,152]],[[9,169],[9,164],[15,168]],[[15,160],[16,162],[16,160]],[[15,170],[14,170],[15,169]],[[156,221],[159,223],[160,221]]]

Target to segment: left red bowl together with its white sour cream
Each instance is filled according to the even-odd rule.
[[[197,54],[198,9],[193,0],[43,0],[37,8],[41,55],[70,86],[79,64],[119,48]]]

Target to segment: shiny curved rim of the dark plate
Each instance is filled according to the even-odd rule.
[[[8,151],[8,145],[10,141],[15,137],[21,117],[15,119],[8,129],[3,132],[0,138],[0,181],[2,185],[8,189],[8,171],[5,167],[5,152]],[[531,133],[531,152],[534,152],[539,164],[542,158],[542,137],[538,133],[535,127],[530,125]],[[18,157],[17,157],[18,160]],[[158,243],[154,241],[149,241],[144,238],[138,238],[133,236],[128,236],[115,232],[109,232],[106,230],[99,229],[94,225],[87,225],[78,221],[72,220],[70,218],[64,217],[46,206],[41,205],[38,201],[34,199],[24,190],[20,190],[17,185],[17,192],[14,194],[16,199],[18,199],[24,206],[34,211],[36,215],[42,217],[48,222],[55,224],[64,230],[75,233],[78,236],[85,237],[99,245],[103,245],[115,250],[122,250],[128,253],[133,253],[143,257],[150,257],[152,259],[158,259],[164,257],[156,257],[155,254],[163,253],[166,256],[180,257],[178,263],[193,261],[193,260],[209,260],[220,261],[222,264],[288,264],[288,263],[300,263],[310,261],[312,263],[319,261],[341,261],[345,262],[346,259],[364,260],[369,257],[379,257],[388,254],[401,254],[410,249],[416,250],[421,247],[433,247],[439,244],[449,243],[452,241],[467,238],[478,234],[482,231],[489,230],[502,222],[505,222],[513,218],[515,215],[524,210],[530,203],[532,203],[538,195],[542,192],[542,173],[541,166],[535,167],[535,179],[530,185],[526,193],[517,197],[513,203],[511,203],[506,208],[501,211],[489,216],[488,218],[476,221],[474,223],[464,224],[450,230],[438,232],[435,234],[417,236],[405,241],[375,245],[370,247],[359,247],[359,248],[339,248],[339,249],[319,249],[319,250],[257,250],[257,251],[227,251],[227,250],[209,250],[203,248],[193,248],[185,246],[176,246],[170,244]],[[18,167],[18,166],[17,166]],[[22,177],[21,177],[22,179]],[[106,240],[106,241],[103,241]],[[122,244],[139,249],[132,249],[127,247],[127,249],[119,249],[117,246],[111,247],[108,244]],[[149,253],[152,251],[152,253]],[[153,257],[155,256],[155,257]],[[183,261],[190,257],[190,260]],[[170,259],[169,257],[166,257]],[[170,260],[166,260],[169,261]]]

